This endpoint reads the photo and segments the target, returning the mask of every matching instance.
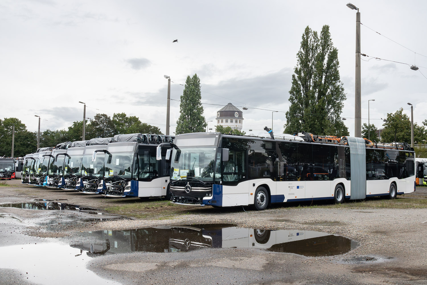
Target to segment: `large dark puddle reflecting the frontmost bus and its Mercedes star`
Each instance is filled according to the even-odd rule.
[[[241,228],[232,224],[157,226],[120,231],[84,232],[92,244],[74,244],[88,256],[135,251],[173,253],[201,248],[259,248],[304,256],[334,256],[358,243],[340,235],[304,230]]]

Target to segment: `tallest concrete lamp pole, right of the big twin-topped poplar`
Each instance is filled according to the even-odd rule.
[[[361,82],[360,82],[360,12],[359,8],[351,3],[347,7],[357,10],[356,13],[356,78],[354,85],[354,136],[362,137],[362,111],[361,111]]]

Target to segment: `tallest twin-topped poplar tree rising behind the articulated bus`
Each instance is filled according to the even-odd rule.
[[[305,28],[294,72],[284,133],[348,135],[341,119],[346,94],[339,76],[338,50],[333,47],[328,25],[322,27],[320,36]]]

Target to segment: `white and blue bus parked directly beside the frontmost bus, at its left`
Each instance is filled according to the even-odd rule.
[[[173,143],[173,136],[150,134],[115,135],[105,150],[105,175],[99,184],[99,192],[106,197],[148,197],[166,196],[170,200],[169,170],[167,159],[157,160],[157,147],[162,156]]]

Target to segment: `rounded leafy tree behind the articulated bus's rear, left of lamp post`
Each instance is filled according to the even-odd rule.
[[[384,130],[381,132],[383,142],[411,142],[411,121],[402,112],[403,108],[395,113],[387,113]]]

